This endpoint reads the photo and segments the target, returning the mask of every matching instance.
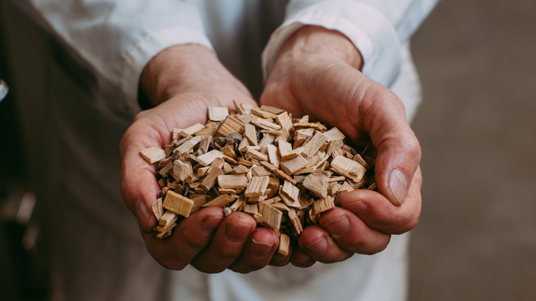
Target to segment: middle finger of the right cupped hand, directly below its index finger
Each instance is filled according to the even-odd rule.
[[[343,208],[324,212],[318,224],[329,233],[338,247],[351,253],[376,254],[383,251],[390,241],[389,234],[371,229],[355,214]]]

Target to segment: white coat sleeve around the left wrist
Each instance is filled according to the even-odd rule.
[[[197,8],[177,0],[18,0],[139,111],[137,85],[150,58],[172,45],[212,49]]]

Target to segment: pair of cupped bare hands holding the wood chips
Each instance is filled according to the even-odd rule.
[[[295,116],[307,114],[337,126],[355,142],[370,139],[378,153],[379,192],[345,194],[340,207],[322,214],[318,225],[306,227],[289,255],[281,256],[275,232],[257,227],[243,212],[225,216],[221,208],[194,212],[164,240],[151,234],[157,221],[149,208],[160,188],[155,166],[147,164],[139,150],[169,144],[170,129],[204,124],[207,106],[233,108],[232,100],[256,104],[205,47],[180,45],[155,56],[140,79],[155,107],[136,116],[120,148],[123,199],[157,262],[170,269],[192,265],[207,273],[247,273],[288,263],[309,267],[356,253],[375,254],[387,247],[390,235],[412,230],[421,213],[421,148],[399,98],[364,76],[361,65],[361,54],[345,36],[306,26],[284,45],[267,79],[260,104]]]

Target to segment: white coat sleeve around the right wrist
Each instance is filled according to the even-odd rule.
[[[304,25],[346,35],[361,52],[363,73],[390,86],[402,65],[402,46],[438,0],[293,0],[263,52],[265,79],[284,41]]]

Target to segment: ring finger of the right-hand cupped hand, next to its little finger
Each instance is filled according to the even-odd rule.
[[[298,245],[311,258],[321,263],[337,263],[353,255],[353,252],[339,247],[328,232],[318,225],[306,227],[298,238]]]

